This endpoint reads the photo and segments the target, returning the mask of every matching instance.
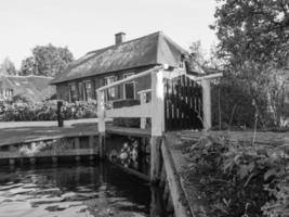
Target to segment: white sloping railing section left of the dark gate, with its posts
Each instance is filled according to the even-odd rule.
[[[141,118],[141,127],[145,127],[145,119],[152,118],[152,135],[161,136],[163,131],[163,66],[157,66],[143,73],[132,75],[124,79],[115,81],[110,85],[101,87],[97,92],[97,115],[98,130],[105,132],[105,118],[116,117],[139,117]],[[150,77],[148,86],[150,88],[143,89],[137,92],[140,104],[108,110],[105,92],[114,87],[123,86],[127,82],[140,80],[145,76]],[[150,100],[148,95],[150,94]]]

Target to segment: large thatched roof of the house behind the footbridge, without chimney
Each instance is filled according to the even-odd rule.
[[[168,64],[176,67],[182,54],[187,54],[187,52],[158,31],[120,44],[91,51],[69,64],[51,84],[147,65]]]

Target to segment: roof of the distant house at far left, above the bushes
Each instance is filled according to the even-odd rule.
[[[37,102],[55,94],[55,87],[49,85],[51,80],[43,76],[0,76],[0,89],[13,89],[14,95]]]

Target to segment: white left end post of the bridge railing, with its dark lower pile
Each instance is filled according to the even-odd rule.
[[[104,91],[97,90],[97,117],[98,117],[98,139],[100,157],[105,158],[105,101]]]

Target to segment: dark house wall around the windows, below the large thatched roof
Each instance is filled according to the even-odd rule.
[[[105,77],[116,76],[117,80],[120,80],[120,79],[123,79],[126,74],[130,74],[130,73],[139,74],[139,73],[142,73],[142,72],[147,71],[147,69],[153,68],[153,67],[155,67],[155,65],[143,66],[143,67],[126,69],[126,71],[119,71],[119,72],[113,72],[113,73],[106,73],[106,74],[102,74],[102,75],[84,77],[84,78],[79,78],[79,79],[57,84],[56,85],[56,97],[57,97],[57,100],[69,101],[69,84],[75,82],[78,87],[79,82],[90,80],[92,84],[92,99],[96,100],[95,90],[105,85]],[[123,99],[123,95],[124,95],[123,86],[118,86],[117,88],[118,88],[119,99]],[[135,89],[134,89],[135,93],[134,93],[134,95],[136,99],[139,99],[137,92],[140,90],[144,90],[144,89],[150,89],[150,76],[149,75],[142,77],[142,78],[139,78],[139,79],[135,79]],[[78,90],[78,93],[79,93],[79,90]]]

